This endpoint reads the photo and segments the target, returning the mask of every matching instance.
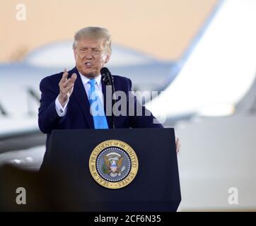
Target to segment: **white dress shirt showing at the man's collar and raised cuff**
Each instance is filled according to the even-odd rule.
[[[87,97],[88,97],[88,93],[89,93],[90,86],[91,86],[88,83],[88,81],[90,81],[90,78],[87,78],[86,76],[81,75],[81,73],[79,73],[79,75],[81,77],[81,80],[82,80],[82,83],[83,83],[83,87],[85,88],[86,94],[87,94]],[[103,102],[103,100],[104,100],[103,99],[103,89],[102,89],[102,84],[101,84],[101,75],[99,75],[97,78],[95,78],[95,81],[96,81],[96,83],[95,83],[95,92],[98,93],[98,96],[100,97],[100,101],[103,103],[103,106],[104,106],[104,102]],[[58,97],[59,97],[59,95],[57,96],[57,98],[55,100],[55,109],[56,109],[56,112],[59,115],[59,117],[64,117],[65,114],[66,114],[66,109],[67,109],[67,105],[69,103],[69,99],[66,102],[65,106],[62,107],[62,105],[60,104],[60,102],[58,100]]]

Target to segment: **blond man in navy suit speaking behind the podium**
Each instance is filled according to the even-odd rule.
[[[38,124],[43,133],[47,133],[47,143],[53,129],[109,129],[111,115],[106,115],[106,85],[100,75],[111,55],[111,37],[107,29],[82,28],[74,37],[74,57],[76,67],[71,71],[54,74],[42,79],[40,83],[41,100]],[[151,112],[146,116],[136,115],[136,98],[129,115],[129,91],[132,81],[122,76],[113,76],[116,91],[127,96],[125,113],[115,117],[115,128],[163,128]],[[93,114],[93,102],[98,102],[99,116]],[[45,154],[45,157],[47,152]]]

